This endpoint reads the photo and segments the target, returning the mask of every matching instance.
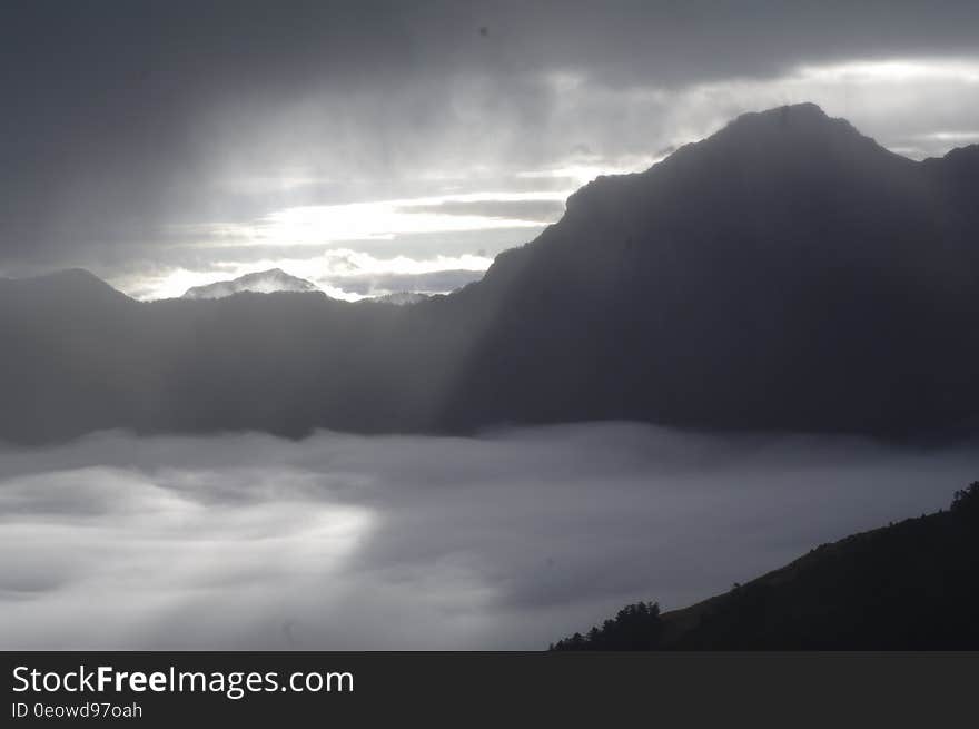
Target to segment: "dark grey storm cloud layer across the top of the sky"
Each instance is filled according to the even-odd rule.
[[[649,154],[665,107],[597,104],[572,125],[565,81],[601,101],[803,61],[970,53],[977,21],[965,1],[7,2],[0,267],[151,257],[168,225],[281,203],[280,185],[234,189],[250,175],[329,178],[330,203],[364,178],[535,167],[575,145]]]

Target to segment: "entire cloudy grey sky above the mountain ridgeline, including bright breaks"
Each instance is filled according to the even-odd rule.
[[[8,1],[0,275],[451,287],[745,110],[812,100],[916,158],[977,142],[977,36],[972,0]]]

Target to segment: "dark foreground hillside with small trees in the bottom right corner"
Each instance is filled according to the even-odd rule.
[[[812,550],[684,610],[625,611],[581,650],[963,650],[979,648],[979,483],[949,511]],[[623,613],[620,613],[622,615]],[[609,623],[606,623],[609,625]],[[620,630],[615,630],[620,628]]]

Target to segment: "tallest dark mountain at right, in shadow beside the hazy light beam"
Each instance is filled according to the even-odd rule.
[[[447,418],[879,433],[973,417],[979,218],[948,166],[802,105],[599,178],[466,292],[485,321]]]

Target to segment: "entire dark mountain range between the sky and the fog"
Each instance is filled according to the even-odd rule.
[[[912,161],[807,104],[597,178],[482,280],[413,306],[0,282],[0,439],[619,418],[971,430],[977,180],[979,147]]]

